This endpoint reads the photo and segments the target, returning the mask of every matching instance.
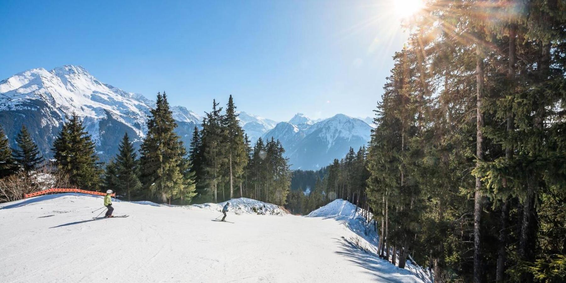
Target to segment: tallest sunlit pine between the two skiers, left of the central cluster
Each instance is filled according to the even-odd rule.
[[[144,193],[152,199],[166,202],[192,198],[194,180],[188,175],[188,159],[181,138],[175,134],[177,127],[169,108],[166,94],[158,93],[156,108],[151,110],[148,133],[140,147],[140,180]],[[187,172],[185,172],[187,171]]]

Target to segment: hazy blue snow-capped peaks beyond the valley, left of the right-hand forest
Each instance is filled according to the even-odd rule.
[[[302,114],[290,121],[277,124],[262,138],[281,141],[291,169],[319,169],[335,158],[344,157],[350,147],[358,150],[370,141],[371,127],[365,121],[344,114],[314,124],[308,124],[312,120]]]

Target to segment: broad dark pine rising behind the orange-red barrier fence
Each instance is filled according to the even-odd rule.
[[[55,165],[68,173],[72,184],[87,190],[100,188],[101,169],[96,164],[95,143],[85,132],[79,116],[73,114],[63,125],[53,143],[53,151]]]

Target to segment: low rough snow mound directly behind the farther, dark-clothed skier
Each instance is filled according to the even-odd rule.
[[[286,215],[289,214],[286,210],[277,206],[276,204],[260,202],[251,198],[233,198],[230,201],[228,207],[229,212],[234,214],[259,214],[259,215]],[[221,203],[204,203],[204,204],[193,204],[191,207],[204,208],[212,211],[222,211],[222,207],[226,205],[226,202]]]

